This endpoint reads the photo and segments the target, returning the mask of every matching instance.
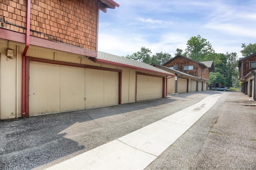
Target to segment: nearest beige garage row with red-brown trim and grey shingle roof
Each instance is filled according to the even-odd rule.
[[[16,58],[6,59],[7,46],[14,50]],[[0,119],[22,117],[24,47],[3,40],[0,47]],[[108,59],[106,56],[109,54],[99,54],[100,63],[88,57],[31,45],[25,61],[26,116],[114,106],[166,96],[166,77],[174,75],[124,57],[111,55],[112,58]]]

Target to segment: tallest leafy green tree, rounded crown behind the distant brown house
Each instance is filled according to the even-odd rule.
[[[188,40],[184,55],[195,61],[207,61],[213,53],[214,50],[209,41],[197,35]]]

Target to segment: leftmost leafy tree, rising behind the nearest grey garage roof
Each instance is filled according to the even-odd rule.
[[[140,51],[137,51],[136,53],[133,53],[132,55],[126,55],[126,58],[133,59],[136,61],[140,61],[143,63],[151,64],[151,50],[146,49],[145,47],[141,47]]]

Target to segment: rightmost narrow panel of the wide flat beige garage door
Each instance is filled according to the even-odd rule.
[[[104,71],[104,106],[112,106],[118,104],[118,78],[118,72]]]

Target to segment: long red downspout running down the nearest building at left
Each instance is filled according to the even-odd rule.
[[[26,116],[25,112],[25,66],[26,66],[26,53],[29,47],[29,37],[30,37],[30,3],[28,0],[27,5],[27,30],[26,30],[26,46],[22,54],[22,116]],[[28,116],[28,115],[27,115]]]

